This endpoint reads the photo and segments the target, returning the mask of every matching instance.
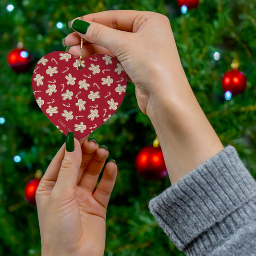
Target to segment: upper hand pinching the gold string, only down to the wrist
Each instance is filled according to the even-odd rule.
[[[83,37],[89,42],[83,46],[84,57],[101,53],[121,61],[135,85],[137,102],[144,113],[150,113],[149,108],[154,106],[148,103],[154,102],[155,97],[162,100],[170,95],[166,90],[173,94],[172,85],[187,81],[166,16],[155,12],[107,11],[85,15],[83,20],[89,24],[80,18],[75,21],[77,24],[72,23],[82,33],[74,32],[64,40],[66,46],[73,46],[68,52],[79,57]]]

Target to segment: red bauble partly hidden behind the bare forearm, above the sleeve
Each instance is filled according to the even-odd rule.
[[[148,180],[159,180],[167,175],[160,147],[146,146],[142,148],[135,159],[135,166],[138,173]]]

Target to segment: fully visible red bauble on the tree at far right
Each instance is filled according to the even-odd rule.
[[[246,83],[246,76],[237,69],[226,72],[222,77],[222,88],[224,92],[230,91],[232,95],[243,93]]]

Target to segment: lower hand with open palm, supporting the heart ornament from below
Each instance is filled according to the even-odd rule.
[[[42,256],[104,254],[115,162],[107,163],[96,190],[95,186],[108,154],[96,141],[74,139],[73,152],[64,144],[49,164],[36,194]]]

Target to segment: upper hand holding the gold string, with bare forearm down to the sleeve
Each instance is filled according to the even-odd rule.
[[[89,42],[83,46],[84,57],[102,53],[121,61],[135,85],[138,105],[158,135],[171,183],[223,149],[188,83],[166,16],[107,11],[83,20],[71,22],[81,33],[64,39],[73,46],[68,52],[78,57],[83,37]]]

